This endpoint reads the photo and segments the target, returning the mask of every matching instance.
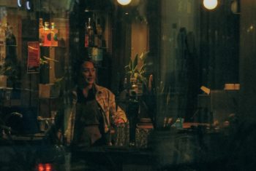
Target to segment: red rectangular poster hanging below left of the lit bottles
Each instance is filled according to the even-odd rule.
[[[40,47],[38,41],[28,42],[28,67],[27,73],[39,73]]]

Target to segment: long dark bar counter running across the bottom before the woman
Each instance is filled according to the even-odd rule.
[[[45,134],[12,135],[1,139],[0,150],[14,147],[26,159],[53,162],[60,170],[69,166],[102,170],[173,170],[189,168],[204,170],[209,166],[217,170],[229,155],[228,134],[225,129],[209,130],[208,124],[184,123],[184,128],[150,129],[147,146],[100,146],[75,148],[47,144]],[[5,145],[3,144],[5,142]],[[1,152],[0,151],[0,152]],[[67,157],[69,156],[69,157]],[[10,161],[11,158],[10,158]],[[1,162],[1,161],[0,161]],[[26,161],[23,161],[26,162]],[[21,163],[21,162],[20,162]]]

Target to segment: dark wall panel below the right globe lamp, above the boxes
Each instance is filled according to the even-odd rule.
[[[200,8],[201,82],[214,90],[239,82],[240,15],[231,12],[230,0],[218,2],[216,9]]]

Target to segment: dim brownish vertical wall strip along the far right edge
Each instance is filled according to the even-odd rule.
[[[255,122],[256,119],[256,1],[241,3],[241,41],[240,41],[240,82],[241,118]]]

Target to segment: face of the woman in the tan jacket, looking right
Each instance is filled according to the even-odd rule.
[[[81,73],[83,76],[83,84],[86,86],[94,84],[96,71],[93,63],[89,61],[84,62],[81,67]]]

